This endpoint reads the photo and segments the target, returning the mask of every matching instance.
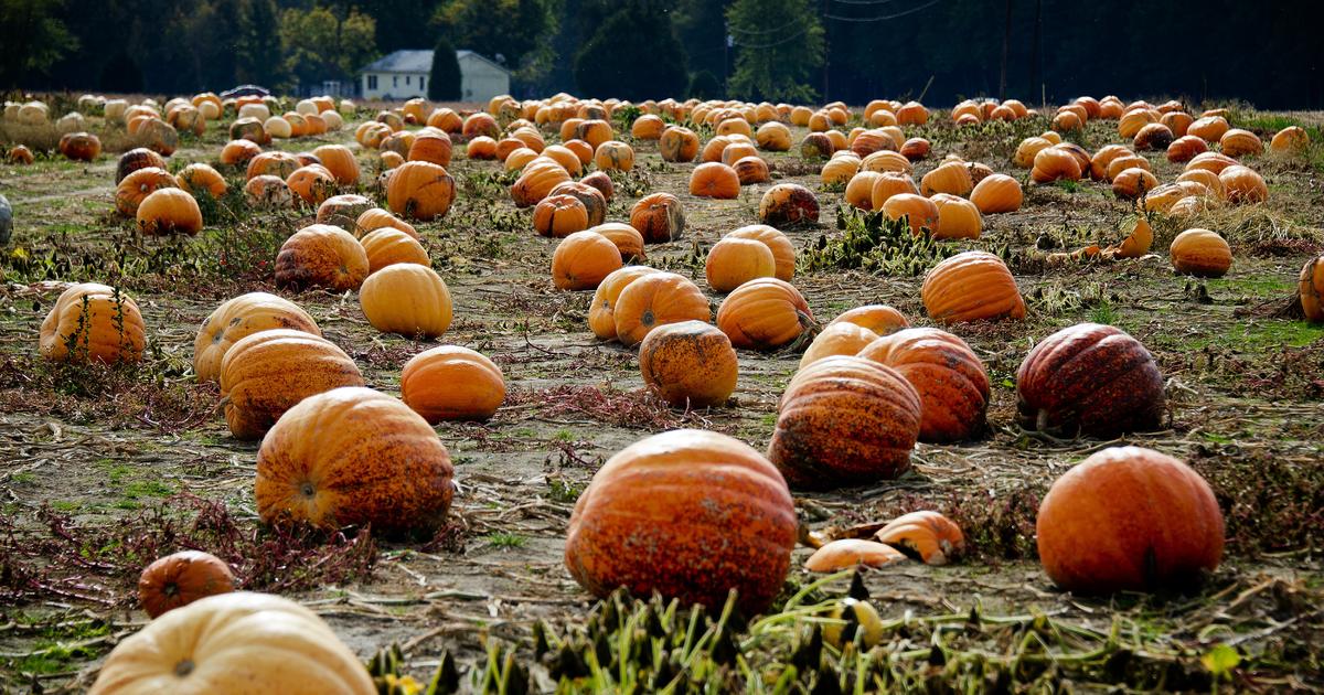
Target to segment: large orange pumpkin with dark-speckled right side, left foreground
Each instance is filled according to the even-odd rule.
[[[454,494],[450,455],[408,405],[367,388],[311,396],[262,440],[254,494],[263,522],[385,533],[440,527]]]

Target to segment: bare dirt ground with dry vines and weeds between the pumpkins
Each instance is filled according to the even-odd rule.
[[[380,159],[352,144],[354,126],[371,116],[361,111],[340,132],[277,147],[350,144],[365,172],[361,192],[384,201],[372,185]],[[1238,119],[1258,127],[1266,142],[1272,135],[1266,126],[1275,119],[1313,126],[1316,135],[1324,123],[1320,114],[1245,110],[1234,113],[1234,124]],[[933,143],[932,156],[916,165],[916,180],[957,154],[1025,181],[1027,172],[1010,155],[1022,138],[1047,128],[1042,116],[965,130],[948,120],[936,113],[929,126],[908,128],[907,135]],[[91,122],[107,143],[123,142],[99,119]],[[214,164],[225,124],[187,140],[171,167]],[[628,127],[617,124],[617,131],[628,139]],[[797,142],[802,135],[796,128]],[[21,136],[0,130],[0,142]],[[989,433],[961,445],[919,445],[914,471],[894,482],[797,494],[802,519],[814,528],[919,508],[961,523],[972,545],[963,561],[902,563],[867,575],[884,618],[940,624],[952,616],[965,621],[976,610],[989,617],[984,625],[997,625],[1039,616],[1082,634],[1112,634],[1110,643],[1143,657],[1137,663],[1164,666],[1155,671],[1160,675],[1091,675],[1070,671],[1071,659],[1063,659],[1063,671],[1053,678],[1086,690],[1107,683],[1324,688],[1317,555],[1324,540],[1324,327],[1286,311],[1301,263],[1324,249],[1317,140],[1307,156],[1253,162],[1268,180],[1268,203],[1211,210],[1189,222],[1156,220],[1155,253],[1140,259],[1045,259],[1045,249],[1124,236],[1131,205],[1095,181],[1026,185],[1021,210],[986,216],[978,241],[939,245],[945,254],[1002,253],[1027,302],[1025,322],[953,330],[990,375]],[[1091,123],[1080,142],[1092,151],[1120,140],[1116,124],[1104,122]],[[667,164],[654,144],[633,144],[636,171],[614,176],[608,218],[628,220],[630,205],[646,192],[678,195],[686,233],[649,246],[647,262],[692,277],[716,307],[720,297],[703,277],[704,250],[757,221],[767,185],[747,187],[737,200],[695,199],[687,195],[692,164]],[[86,688],[114,643],[146,624],[134,598],[138,571],[154,553],[191,544],[232,561],[248,588],[314,608],[364,658],[400,643],[406,670],[417,676],[429,675],[444,650],[458,658],[462,672],[475,665],[482,670],[489,641],[527,643],[538,620],[559,631],[587,620],[594,600],[563,565],[564,533],[575,498],[602,461],[647,434],[681,426],[767,446],[797,352],[741,351],[740,383],[724,408],[682,413],[659,405],[642,391],[636,352],[601,343],[588,330],[592,293],[552,286],[555,240],[538,237],[530,210],[510,201],[511,179],[502,165],[469,160],[462,151],[457,146],[450,167],[458,188],[454,208],[444,220],[418,225],[455,303],[455,322],[438,342],[493,357],[510,391],[491,421],[437,428],[461,492],[450,524],[436,539],[409,543],[354,532],[310,540],[261,528],[253,500],[257,447],[229,436],[216,388],[192,376],[192,343],[203,319],[236,294],[277,291],[275,249],[311,222],[312,210],[257,212],[226,199],[205,210],[208,229],[196,238],[143,238],[131,220],[114,213],[118,152],[91,164],[44,156],[30,167],[0,164],[0,193],[16,218],[13,241],[0,249],[0,688]],[[821,185],[817,164],[796,152],[765,156],[780,181],[818,192],[820,224],[788,230],[802,258],[822,238],[841,234],[839,217],[858,214],[841,208],[841,192]],[[1149,160],[1160,180],[1180,172],[1161,154]],[[242,179],[242,172],[222,172],[232,185]],[[1235,261],[1227,277],[1196,281],[1173,273],[1168,244],[1188,226],[1229,238]],[[886,275],[802,267],[794,285],[821,322],[858,304],[886,303],[912,324],[928,324],[919,295],[923,270]],[[144,363],[136,369],[45,364],[37,331],[61,290],[53,281],[106,282],[131,294],[148,328]],[[282,294],[356,360],[372,388],[399,393],[402,364],[430,347],[379,334],[352,293]],[[1037,340],[1087,320],[1140,339],[1168,383],[1165,428],[1124,441],[1190,462],[1223,507],[1225,561],[1193,594],[1080,598],[1055,589],[1039,569],[1033,540],[1038,498],[1070,465],[1117,442],[1054,441],[1021,430],[1016,369]],[[808,552],[796,551],[792,589],[817,579],[798,569]],[[839,594],[846,584],[838,579],[824,590]],[[973,646],[961,653],[1010,654],[1018,638],[994,633],[970,638]],[[1218,645],[1231,646],[1238,663],[1225,667],[1211,659]],[[959,682],[932,659],[918,669],[924,678],[936,675],[923,680],[931,688]]]

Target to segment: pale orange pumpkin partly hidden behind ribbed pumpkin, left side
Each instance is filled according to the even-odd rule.
[[[312,316],[274,294],[249,293],[221,303],[203,320],[193,340],[193,373],[197,380],[218,381],[221,361],[234,343],[273,328],[322,335]]]

